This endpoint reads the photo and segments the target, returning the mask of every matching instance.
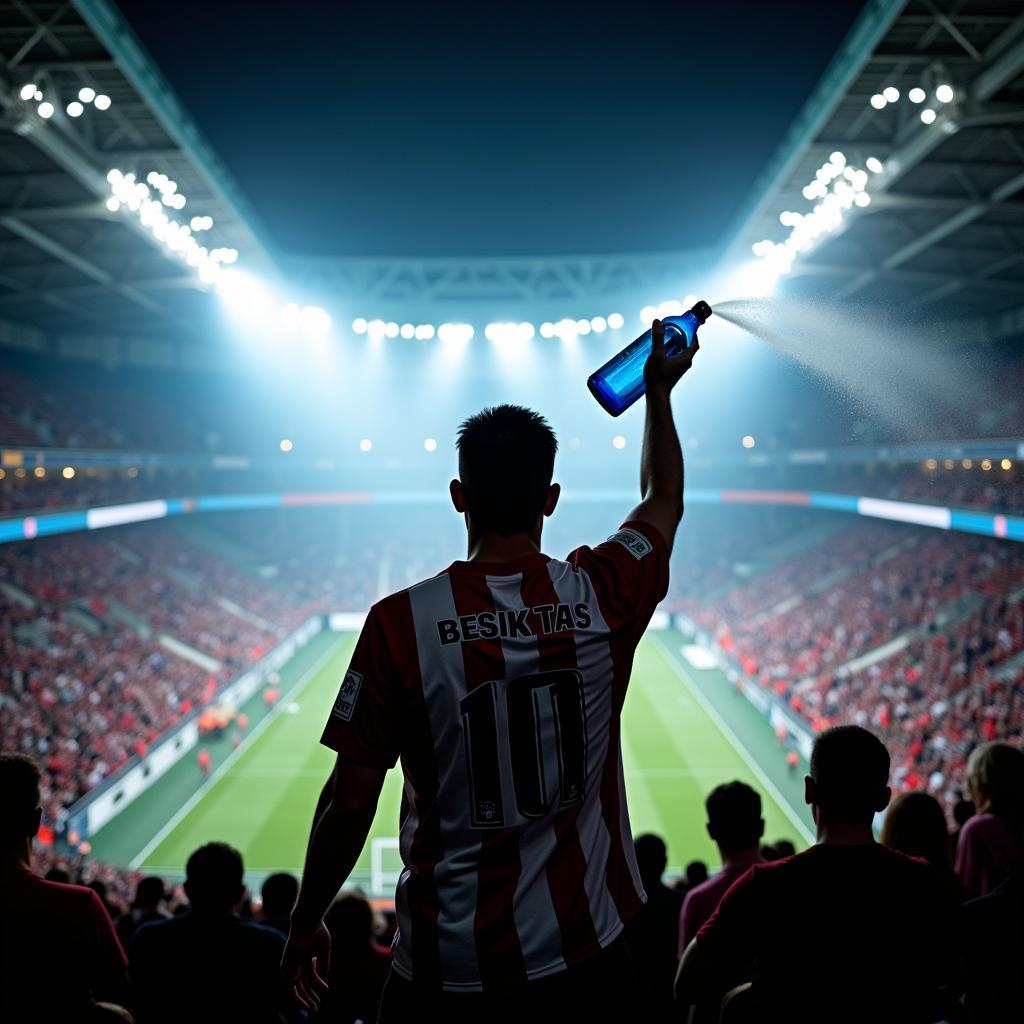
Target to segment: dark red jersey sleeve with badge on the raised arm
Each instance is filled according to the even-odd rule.
[[[650,523],[623,523],[596,548],[577,548],[568,561],[594,584],[609,629],[632,628],[639,639],[669,590],[669,549]]]

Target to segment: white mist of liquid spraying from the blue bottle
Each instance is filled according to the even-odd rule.
[[[991,398],[991,377],[955,324],[833,302],[738,299],[713,304],[729,321],[802,364],[837,397],[901,435],[968,436]],[[959,335],[959,337],[957,336]]]

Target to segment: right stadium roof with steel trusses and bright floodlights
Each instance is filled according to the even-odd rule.
[[[808,217],[837,180],[854,188],[821,229]],[[1024,333],[1020,0],[868,3],[725,258],[755,246],[792,260],[786,294],[952,311],[992,339]]]

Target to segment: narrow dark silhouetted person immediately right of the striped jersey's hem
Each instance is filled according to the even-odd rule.
[[[672,1008],[672,981],[676,976],[676,937],[683,894],[662,881],[669,857],[657,836],[633,841],[637,867],[647,902],[627,929],[630,952],[648,1014],[666,1014]]]

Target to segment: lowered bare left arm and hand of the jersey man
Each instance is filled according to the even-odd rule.
[[[366,845],[386,774],[384,768],[356,764],[339,755],[317,801],[282,961],[286,982],[307,1010],[314,1011],[327,990],[324,975],[330,963],[331,936],[324,914]]]

